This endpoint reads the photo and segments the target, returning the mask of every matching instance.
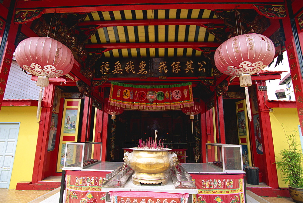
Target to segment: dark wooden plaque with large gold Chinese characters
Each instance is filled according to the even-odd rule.
[[[211,76],[211,65],[205,58],[140,58],[106,61],[102,59],[95,67],[95,78],[138,77],[153,72],[155,77]]]

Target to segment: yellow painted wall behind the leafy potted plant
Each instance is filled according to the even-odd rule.
[[[298,111],[296,108],[273,108],[275,112],[269,113],[270,122],[271,122],[271,131],[272,138],[274,142],[274,150],[276,161],[281,161],[278,153],[284,149],[288,148],[288,144],[286,142],[286,137],[283,131],[281,124],[285,125],[286,131],[298,131],[299,118]],[[300,142],[299,132],[297,133],[297,141]],[[280,169],[278,171],[278,183],[279,187],[288,187],[287,184],[284,183],[281,179]]]

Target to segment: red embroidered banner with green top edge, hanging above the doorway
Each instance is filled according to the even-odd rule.
[[[146,94],[153,90],[157,98],[150,103]],[[108,102],[123,108],[161,110],[192,106],[191,82],[175,85],[131,85],[112,82]]]

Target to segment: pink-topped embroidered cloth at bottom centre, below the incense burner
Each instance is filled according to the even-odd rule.
[[[111,203],[187,203],[188,193],[110,191]]]

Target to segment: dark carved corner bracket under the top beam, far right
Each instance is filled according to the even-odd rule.
[[[284,5],[253,5],[253,8],[258,12],[258,14],[264,15],[266,18],[286,18]]]

